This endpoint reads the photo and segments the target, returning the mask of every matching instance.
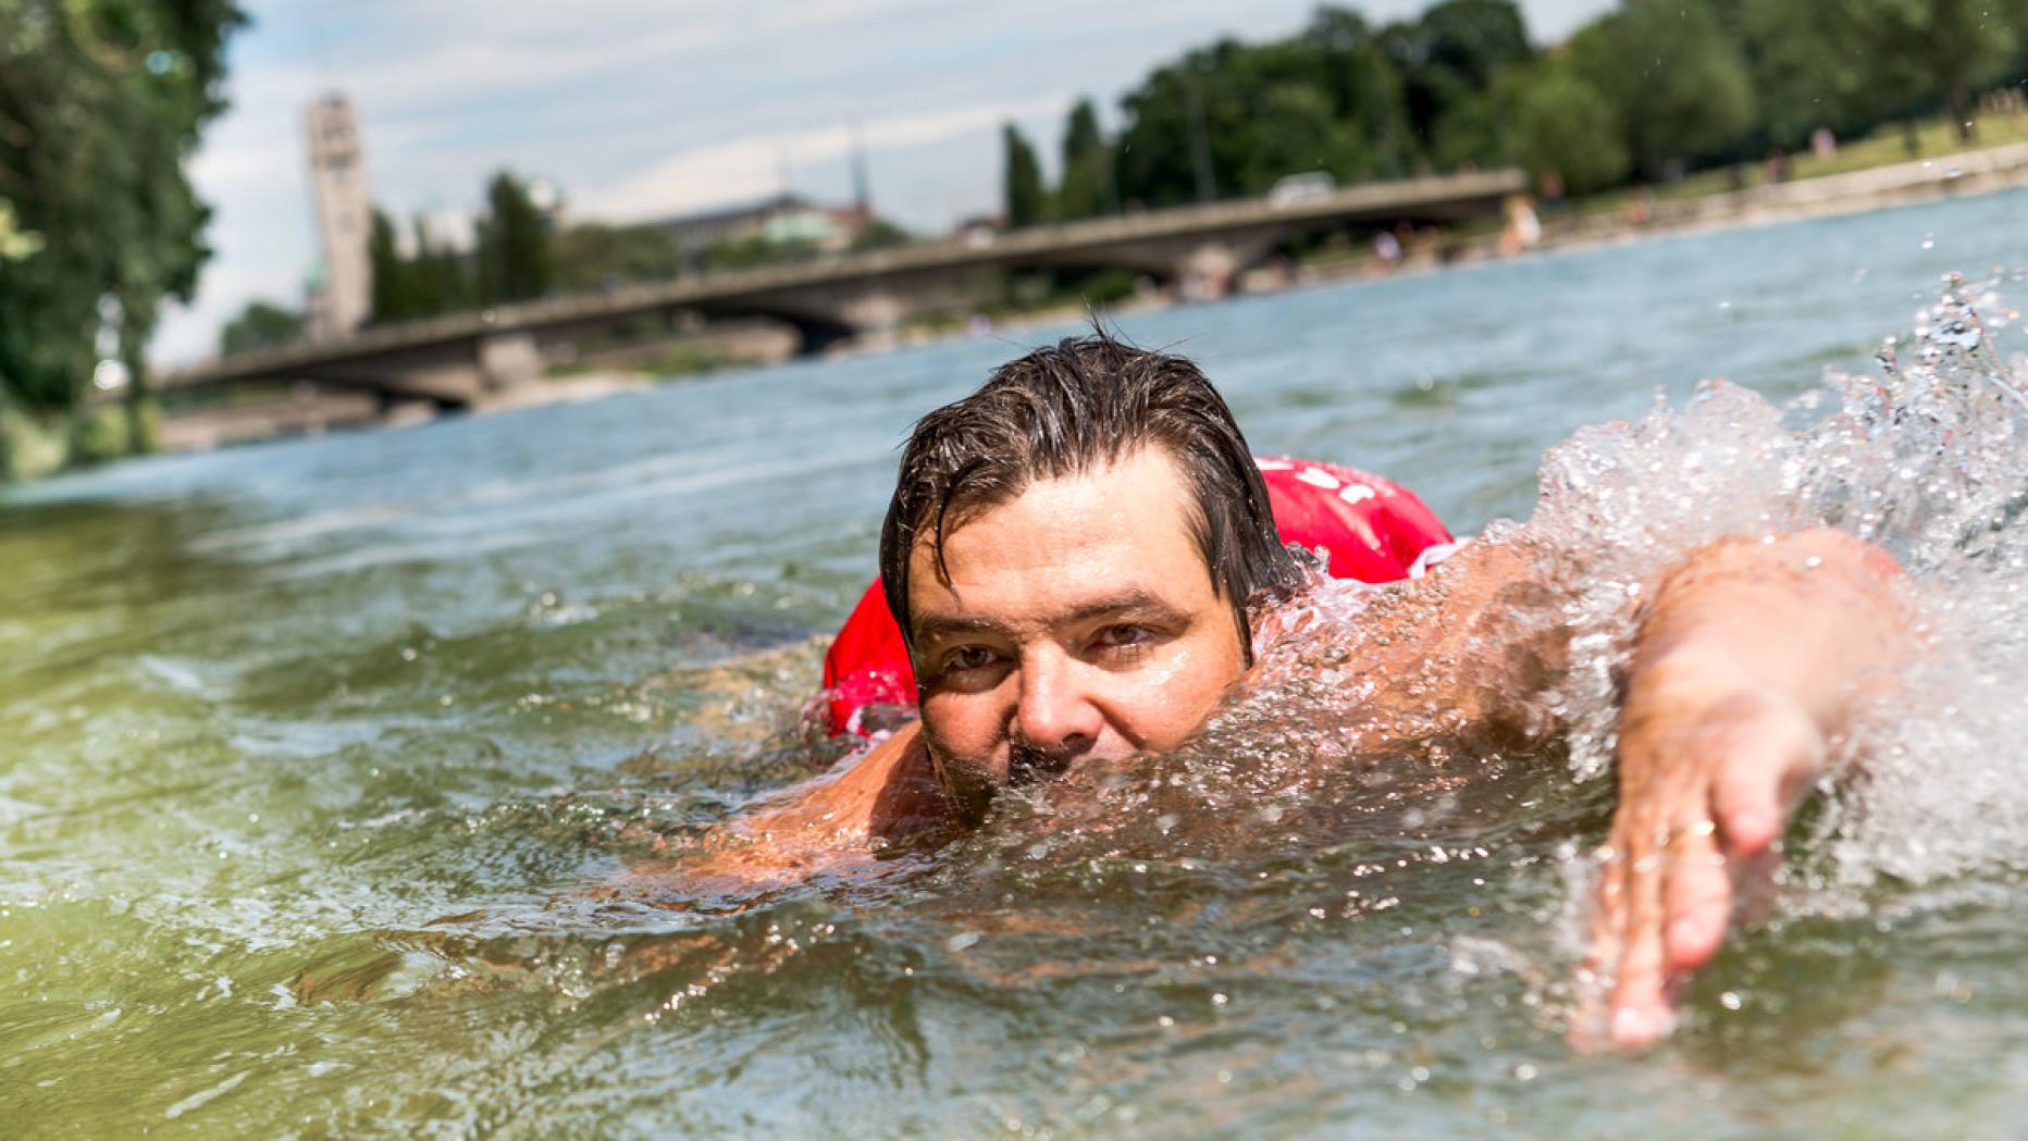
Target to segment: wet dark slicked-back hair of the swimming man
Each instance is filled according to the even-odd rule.
[[[880,529],[880,578],[902,638],[915,646],[909,559],[929,539],[943,561],[945,529],[967,511],[1014,501],[1034,480],[1081,474],[1142,446],[1160,446],[1190,482],[1190,537],[1211,586],[1233,606],[1253,665],[1247,604],[1288,590],[1296,563],[1282,545],[1268,484],[1245,436],[1188,359],[1134,349],[1105,332],[1067,336],[1008,361],[980,391],[917,422],[902,450]]]

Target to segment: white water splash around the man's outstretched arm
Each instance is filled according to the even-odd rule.
[[[1882,345],[1874,373],[1831,371],[1789,407],[1710,381],[1679,409],[1657,399],[1639,422],[1578,432],[1545,456],[1531,519],[1482,537],[1535,551],[1539,586],[1503,596],[1460,653],[1405,659],[1428,675],[1391,683],[1411,697],[1405,705],[1375,703],[1373,663],[1399,661],[1379,634],[1399,622],[1375,608],[1422,606],[1436,620],[1442,600],[1424,590],[1395,602],[1312,572],[1300,602],[1263,624],[1268,683],[1213,728],[1213,752],[1272,772],[1294,770],[1294,756],[1359,762],[1393,744],[1430,780],[1454,774],[1458,756],[1482,766],[1503,746],[1466,724],[1474,671],[1489,683],[1525,677],[1517,657],[1566,626],[1568,673],[1509,726],[1507,744],[1568,750],[1572,774],[1596,782],[1612,760],[1618,677],[1655,578],[1726,535],[1831,525],[1908,572],[1931,653],[1833,742],[1852,766],[1833,766],[1813,859],[1797,873],[1809,906],[1825,908],[1827,894],[1858,906],[1856,890],[1882,876],[1933,882],[2022,865],[2028,395],[2022,361],[2002,345],[2016,320],[1998,282],[1947,278],[1912,336]],[[1555,726],[1560,740],[1545,740]],[[1389,766],[1399,772],[1403,760]]]

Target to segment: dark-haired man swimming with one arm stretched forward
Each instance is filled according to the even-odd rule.
[[[1219,393],[1188,361],[1105,336],[1012,361],[917,424],[880,574],[921,719],[734,821],[748,843],[710,871],[831,869],[973,827],[1012,784],[1174,750],[1245,689],[1263,604],[1298,586]],[[1430,663],[1460,663],[1434,675],[1454,724],[1525,715],[1543,677],[1474,659],[1474,632],[1539,574],[1525,543],[1474,543],[1389,588],[1405,602],[1361,616],[1381,624],[1371,721],[1428,707]],[[1815,529],[1718,541],[1649,584],[1586,961],[1608,1042],[1667,1034],[1673,989],[1718,950],[1825,742],[1906,657],[1894,578],[1886,555]],[[1515,661],[1553,669],[1545,638]]]

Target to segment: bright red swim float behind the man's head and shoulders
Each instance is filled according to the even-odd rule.
[[[1397,582],[1450,531],[1414,492],[1393,480],[1310,460],[1253,460],[1268,482],[1284,543],[1324,547],[1332,578]],[[823,655],[825,724],[836,734],[864,734],[868,705],[915,705],[915,669],[900,626],[874,580]]]

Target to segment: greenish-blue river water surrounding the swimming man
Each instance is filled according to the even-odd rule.
[[[1837,440],[1872,444],[1807,454],[1746,393],[1651,407],[1704,377],[1795,401],[1890,334],[1931,383],[1910,355],[1959,326],[1908,332],[1947,272],[2000,282],[1985,336],[2022,349],[2012,265],[2024,193],[1121,322],[1197,357],[1257,452],[1389,474],[1458,531],[1527,517],[1580,426],[1649,415],[1558,454],[1566,539],[1787,503],[1758,517],[1843,519],[1941,598],[1925,693],[1963,715],[1874,732],[1878,778],[1809,813],[1641,1058],[1564,1046],[1610,809],[1584,709],[1549,756],[1330,811],[1251,801],[1233,750],[1229,786],[1103,841],[1042,803],[874,886],[596,892],[836,756],[797,713],[894,446],[1065,330],[0,492],[0,1131],[2010,1135],[2028,543],[1994,486],[2028,452],[1989,391],[1973,420],[1848,385]],[[1677,517],[1639,476],[1669,464],[1746,474],[1673,482]]]

